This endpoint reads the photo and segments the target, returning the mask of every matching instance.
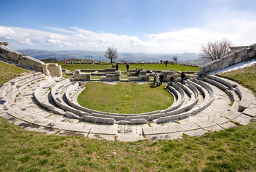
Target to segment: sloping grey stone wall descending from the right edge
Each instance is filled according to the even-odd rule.
[[[249,47],[232,52],[231,54],[222,57],[222,59],[216,59],[207,63],[203,67],[200,67],[198,76],[207,75],[207,73],[214,72],[216,70],[223,70],[226,67],[252,58],[256,58],[256,44],[252,44]]]

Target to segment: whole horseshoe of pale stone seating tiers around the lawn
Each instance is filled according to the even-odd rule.
[[[156,110],[131,115],[97,111],[85,113],[72,107],[69,99],[77,103],[77,96],[83,90],[77,82],[50,77],[45,77],[46,80],[34,78],[33,81],[31,78],[29,82],[25,79],[27,76],[24,76],[24,80],[21,78],[16,78],[19,80],[15,82],[6,82],[0,87],[0,116],[10,123],[23,126],[26,130],[56,135],[75,134],[126,141],[144,139],[142,135],[152,140],[174,139],[181,138],[183,133],[202,135],[222,130],[235,126],[234,122],[246,125],[250,122],[250,116],[256,116],[256,99],[252,92],[233,82],[230,83],[236,86],[231,89],[219,82],[228,89],[233,101],[232,107],[228,105],[229,96],[220,87],[201,80],[188,80],[186,85],[176,83],[176,86],[172,87],[178,95],[176,103],[183,99],[184,92],[184,102],[176,110],[166,113]],[[16,85],[21,87],[17,88]],[[174,95],[174,92],[171,93]],[[250,101],[246,101],[246,97],[250,97]],[[51,102],[52,100],[55,101]],[[4,110],[4,105],[6,108],[9,106],[9,109]],[[62,113],[58,113],[56,109]],[[79,112],[74,113],[72,110]],[[179,120],[179,123],[174,123],[173,120]],[[152,122],[151,125],[146,124],[148,122]]]

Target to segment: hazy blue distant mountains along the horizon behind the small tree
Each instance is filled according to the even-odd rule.
[[[105,52],[93,51],[45,51],[36,49],[17,49],[16,51],[22,52],[24,55],[29,55],[36,59],[49,59],[56,58],[58,60],[64,59],[92,59],[101,62],[110,62],[109,59],[104,57]],[[118,59],[115,61],[125,60],[127,62],[159,62],[160,60],[172,61],[176,55],[178,62],[193,63],[194,60],[199,60],[199,55],[196,53],[180,53],[180,54],[146,54],[146,53],[123,53],[119,52]],[[198,62],[196,62],[197,64]]]

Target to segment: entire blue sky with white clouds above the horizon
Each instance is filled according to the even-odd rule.
[[[13,49],[199,53],[226,37],[256,43],[255,0],[0,0]]]

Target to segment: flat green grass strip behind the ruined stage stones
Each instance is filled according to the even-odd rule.
[[[97,69],[97,70],[105,70],[106,68],[112,68],[110,64],[67,64],[65,67],[64,62],[57,62],[59,65],[62,66],[62,69],[75,71],[77,69]],[[115,65],[115,64],[114,64]],[[126,71],[126,65],[118,65],[118,70]],[[167,65],[165,67],[164,64],[153,64],[153,65],[130,65],[129,70],[136,70],[143,69],[143,70],[174,70],[177,71],[199,71],[199,67],[189,67],[189,66],[182,66],[182,65]]]

